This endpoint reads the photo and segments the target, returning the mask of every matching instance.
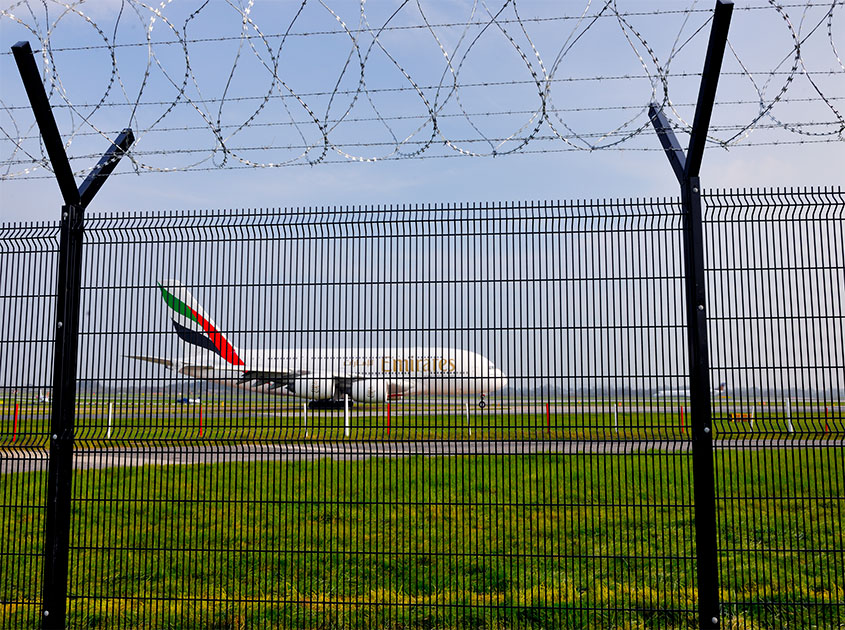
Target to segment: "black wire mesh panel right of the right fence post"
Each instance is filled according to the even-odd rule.
[[[737,627],[845,623],[845,197],[707,197],[720,584]]]

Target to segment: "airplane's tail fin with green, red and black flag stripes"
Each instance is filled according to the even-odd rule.
[[[165,304],[170,307],[176,334],[189,344],[210,350],[232,365],[244,365],[234,346],[223,336],[188,288],[178,280],[158,283]]]

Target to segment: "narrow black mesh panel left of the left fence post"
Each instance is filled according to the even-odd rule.
[[[40,619],[58,229],[0,226],[0,627]]]

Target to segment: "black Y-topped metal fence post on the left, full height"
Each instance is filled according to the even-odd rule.
[[[91,203],[135,138],[131,129],[124,129],[82,186],[77,188],[29,42],[18,42],[12,46],[12,54],[65,202],[62,206],[59,237],[53,406],[50,416],[50,460],[47,472],[41,607],[42,628],[65,628],[79,348],[79,304],[82,289],[83,218],[85,208]]]

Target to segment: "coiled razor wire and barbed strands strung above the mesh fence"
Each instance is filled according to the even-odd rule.
[[[688,133],[712,9],[559,4],[19,0],[0,32],[34,40],[78,175],[124,127],[136,173],[651,150],[651,102]],[[845,140],[843,6],[736,8],[711,145]],[[28,109],[4,87],[0,179],[49,169]]]

